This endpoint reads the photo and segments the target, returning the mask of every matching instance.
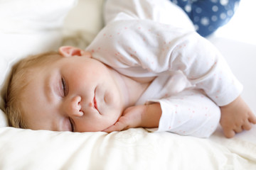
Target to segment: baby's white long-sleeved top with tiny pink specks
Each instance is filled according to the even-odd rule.
[[[209,137],[220,120],[218,106],[234,101],[242,85],[218,50],[189,27],[184,13],[187,28],[156,21],[166,3],[108,0],[106,26],[86,50],[121,74],[156,77],[137,105],[161,104],[158,131]],[[176,8],[169,1],[168,6]]]

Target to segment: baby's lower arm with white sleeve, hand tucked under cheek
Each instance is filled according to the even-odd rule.
[[[117,123],[104,131],[159,128],[159,132],[209,137],[220,120],[219,107],[200,91],[185,90],[169,98],[151,102],[157,103],[127,108]]]

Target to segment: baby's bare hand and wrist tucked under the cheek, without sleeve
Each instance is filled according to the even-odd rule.
[[[127,108],[114,125],[103,130],[113,132],[127,130],[129,128],[157,128],[161,117],[159,103],[139,105]]]

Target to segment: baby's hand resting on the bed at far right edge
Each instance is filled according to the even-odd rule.
[[[235,101],[220,107],[220,125],[225,137],[233,137],[242,130],[250,130],[251,123],[256,124],[256,117],[245,101],[239,96]]]

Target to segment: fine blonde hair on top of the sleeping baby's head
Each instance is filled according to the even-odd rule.
[[[5,113],[9,118],[9,125],[14,128],[28,128],[23,118],[23,109],[21,107],[21,94],[29,82],[30,74],[33,69],[47,66],[53,60],[58,60],[58,52],[45,52],[39,55],[33,55],[23,58],[11,69],[9,82],[5,95]]]

